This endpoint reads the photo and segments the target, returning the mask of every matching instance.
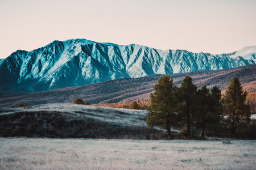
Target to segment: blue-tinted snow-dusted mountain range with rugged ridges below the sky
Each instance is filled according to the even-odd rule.
[[[45,91],[118,78],[228,69],[256,62],[256,46],[229,54],[159,50],[147,46],[53,41],[0,60],[1,91]]]

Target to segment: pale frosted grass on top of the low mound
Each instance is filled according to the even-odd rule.
[[[1,108],[3,114],[14,114],[16,112],[63,112],[78,117],[95,118],[103,122],[113,122],[115,124],[123,124],[130,126],[147,126],[147,111],[119,109],[110,107],[97,107],[94,105],[77,105],[77,104],[42,104],[25,108]],[[143,121],[142,121],[143,120]]]

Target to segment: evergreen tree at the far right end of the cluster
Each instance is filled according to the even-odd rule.
[[[227,118],[231,137],[237,133],[245,134],[250,123],[250,107],[245,104],[246,92],[243,92],[238,78],[234,77],[224,95],[224,114]]]

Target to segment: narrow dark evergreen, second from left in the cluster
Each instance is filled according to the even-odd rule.
[[[192,83],[191,76],[187,75],[183,79],[178,90],[177,96],[179,98],[179,117],[185,125],[187,125],[187,133],[191,132],[192,114],[196,111],[197,87]]]

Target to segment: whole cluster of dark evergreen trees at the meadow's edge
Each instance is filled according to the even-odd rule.
[[[182,128],[183,134],[193,137],[205,134],[214,137],[255,138],[255,121],[250,119],[250,106],[245,103],[247,93],[234,77],[223,97],[214,86],[204,84],[200,89],[191,76],[183,79],[180,87],[173,85],[169,75],[160,77],[150,94],[147,125],[166,129],[171,137],[171,126]]]

